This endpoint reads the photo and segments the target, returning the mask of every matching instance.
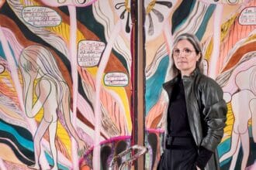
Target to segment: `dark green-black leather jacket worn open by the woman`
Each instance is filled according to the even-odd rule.
[[[174,84],[181,79],[181,75],[163,84],[164,90],[171,97]],[[183,76],[186,107],[189,127],[195,144],[209,151],[215,151],[205,169],[219,169],[219,157],[216,147],[223,138],[227,104],[223,100],[223,90],[216,81],[195,69],[191,76]],[[166,119],[167,120],[167,119]]]

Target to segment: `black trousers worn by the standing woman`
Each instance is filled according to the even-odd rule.
[[[164,153],[157,165],[157,170],[195,170],[198,156],[197,147],[192,138],[168,137]]]

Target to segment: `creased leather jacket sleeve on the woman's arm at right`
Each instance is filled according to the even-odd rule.
[[[209,151],[215,151],[223,138],[227,120],[227,104],[223,100],[223,90],[216,81],[206,79],[201,91],[202,118],[205,124],[204,138],[201,146]]]

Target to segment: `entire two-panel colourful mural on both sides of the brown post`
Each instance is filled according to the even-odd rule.
[[[256,169],[256,0],[144,0],[144,32],[135,32],[135,2],[0,0],[0,169],[116,169],[130,159],[133,151],[116,156],[138,138],[137,33],[145,49],[139,138],[144,168],[155,169],[161,84],[173,76],[172,41],[183,32],[202,42],[205,73],[227,101],[220,168]]]

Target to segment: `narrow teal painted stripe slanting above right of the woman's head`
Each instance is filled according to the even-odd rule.
[[[199,29],[197,30],[197,32],[195,33],[195,36],[197,36],[197,38],[199,40],[202,39],[202,36],[204,35],[204,33],[206,32],[206,27],[207,27],[207,24],[209,22],[209,18],[211,18],[211,16],[213,15],[213,12],[216,8],[216,5],[215,4],[211,4],[209,5],[209,7],[207,8],[207,11],[206,11],[206,15],[204,15],[203,19],[202,19],[202,23],[201,23],[201,26],[199,26]]]

